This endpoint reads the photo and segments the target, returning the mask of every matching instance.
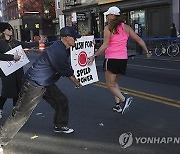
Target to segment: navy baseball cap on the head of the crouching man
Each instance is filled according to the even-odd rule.
[[[61,37],[70,36],[70,37],[74,37],[74,38],[80,38],[81,37],[81,35],[79,35],[78,32],[75,30],[75,28],[72,26],[63,27],[60,30],[60,36]]]

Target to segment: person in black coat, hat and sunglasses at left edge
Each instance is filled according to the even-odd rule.
[[[1,61],[18,61],[19,55],[5,54],[7,51],[22,45],[23,48],[30,48],[38,46],[38,42],[26,43],[20,42],[13,38],[13,28],[9,23],[0,22],[0,60]],[[22,86],[22,78],[24,75],[23,67],[14,73],[5,76],[0,69],[0,77],[2,80],[2,91],[0,96],[0,119],[3,116],[3,106],[7,98],[13,99],[13,106],[15,106],[18,99],[18,94]]]

